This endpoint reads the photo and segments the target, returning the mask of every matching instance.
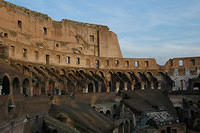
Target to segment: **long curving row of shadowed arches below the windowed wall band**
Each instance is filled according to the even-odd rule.
[[[2,95],[13,89],[29,95],[61,95],[119,90],[170,89],[173,81],[164,72],[134,72],[55,68],[42,65],[14,63],[24,79],[3,77]],[[17,89],[16,89],[17,88]]]

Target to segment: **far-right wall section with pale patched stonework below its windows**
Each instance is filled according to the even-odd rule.
[[[170,59],[165,69],[174,81],[173,90],[193,89],[189,80],[197,78],[200,74],[200,57]]]

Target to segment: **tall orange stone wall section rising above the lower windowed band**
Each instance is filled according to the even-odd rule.
[[[122,57],[117,36],[107,26],[58,22],[2,0],[0,20],[1,36],[15,42],[71,54]]]

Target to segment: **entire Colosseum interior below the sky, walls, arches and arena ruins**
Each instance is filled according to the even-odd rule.
[[[152,98],[156,94],[167,97]],[[153,58],[123,58],[117,35],[107,26],[54,21],[0,0],[2,133],[143,133],[137,123],[147,111],[130,102],[141,99],[144,106],[172,108],[178,116],[187,109],[184,103],[196,103],[188,121],[152,129],[184,133],[189,126],[200,129],[199,94],[200,57],[173,58],[165,65]],[[188,125],[194,115],[198,119]]]

